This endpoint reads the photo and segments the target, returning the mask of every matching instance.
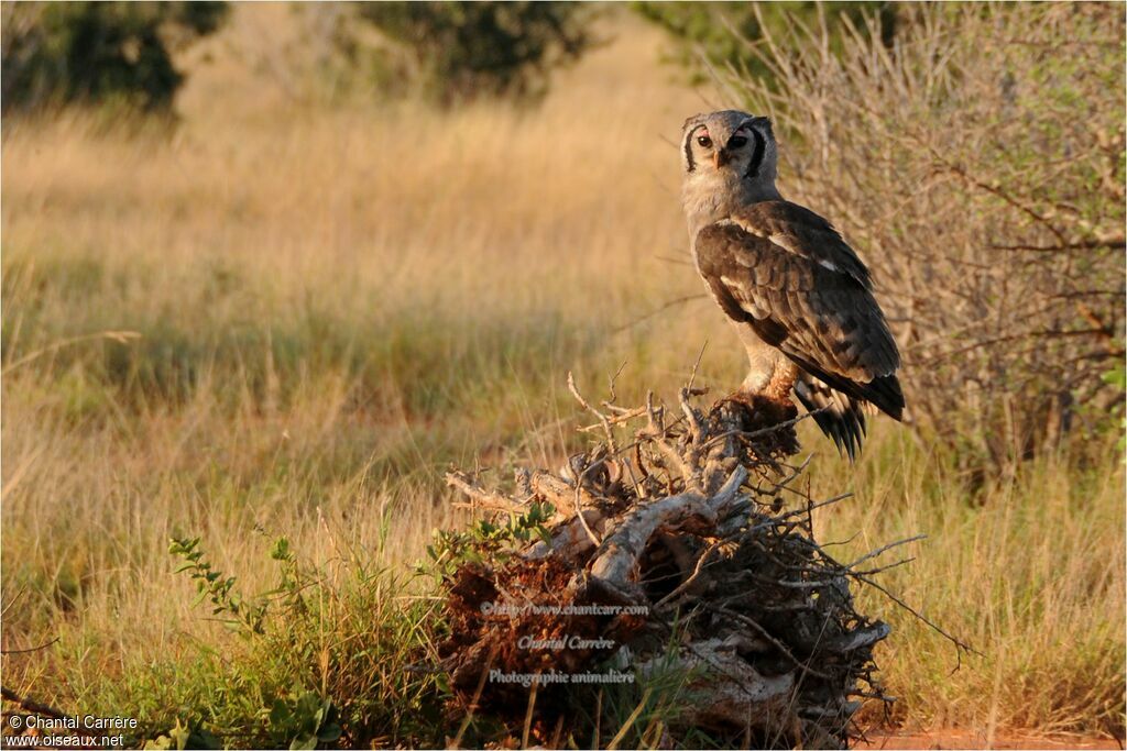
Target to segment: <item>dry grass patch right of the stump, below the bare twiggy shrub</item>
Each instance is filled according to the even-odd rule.
[[[894,626],[881,667],[903,699],[896,718],[991,737],[1003,728],[1121,737],[1124,470],[1111,447],[1106,470],[1057,455],[971,494],[951,462],[894,431],[881,430],[844,481],[855,502],[823,516],[823,538],[855,535],[843,546],[850,560],[926,534],[904,553],[911,565],[881,583],[983,653],[960,667],[948,641],[864,592],[867,611],[887,613]],[[829,462],[814,474],[819,495],[843,483]]]

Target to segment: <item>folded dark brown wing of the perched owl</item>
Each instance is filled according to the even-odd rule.
[[[896,342],[869,270],[828,222],[796,204],[763,202],[706,226],[694,249],[729,318],[831,388],[900,419]]]

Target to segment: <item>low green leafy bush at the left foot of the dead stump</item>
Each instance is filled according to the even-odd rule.
[[[445,689],[432,665],[444,620],[435,598],[358,560],[331,571],[309,565],[285,537],[269,551],[274,585],[252,596],[215,569],[199,537],[174,538],[169,553],[195,581],[196,604],[207,600],[211,616],[240,638],[201,643],[190,677],[172,687],[151,668],[133,676],[134,690],[161,681],[150,690],[167,695],[157,712],[141,713],[140,737],[131,740],[161,749],[441,742]]]

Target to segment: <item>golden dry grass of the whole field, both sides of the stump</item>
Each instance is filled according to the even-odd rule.
[[[202,535],[248,591],[273,580],[278,535],[334,571],[401,565],[456,520],[447,463],[553,466],[578,442],[567,369],[589,393],[625,361],[625,397],[669,393],[708,340],[701,378],[739,377],[703,299],[622,329],[701,292],[673,142],[708,105],[653,68],[649,33],[535,111],[314,110],[256,72],[255,29],[292,21],[257,8],[208,42],[171,135],[6,124],[5,649],[59,642],[5,656],[5,683],[68,707],[157,713],[144,691],[229,643],[171,575],[170,535]],[[104,331],[141,337],[55,347]],[[948,674],[951,653],[905,622],[882,662],[906,718],[1121,721],[1113,449],[1102,467],[1041,461],[975,504],[893,426],[855,475],[806,440],[817,488],[859,492],[826,524],[859,546],[928,533],[895,584],[988,655]],[[147,670],[148,688],[107,686]]]

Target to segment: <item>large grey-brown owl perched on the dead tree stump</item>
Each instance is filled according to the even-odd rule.
[[[793,393],[854,459],[866,411],[904,412],[900,356],[869,269],[829,222],[779,194],[769,118],[690,117],[681,150],[693,260],[747,350],[737,396],[793,410]]]

